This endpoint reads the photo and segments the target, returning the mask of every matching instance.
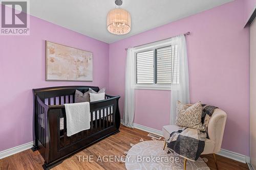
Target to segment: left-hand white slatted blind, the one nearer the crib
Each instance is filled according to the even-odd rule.
[[[137,84],[154,83],[154,50],[137,53]]]

